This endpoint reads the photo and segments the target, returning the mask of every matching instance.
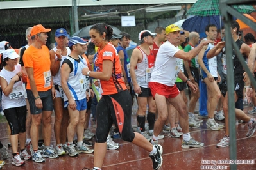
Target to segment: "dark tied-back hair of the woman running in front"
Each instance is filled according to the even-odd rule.
[[[103,33],[106,33],[105,40],[109,41],[112,38],[113,29],[111,26],[105,23],[97,23],[94,24],[92,27],[90,27],[90,30],[94,29],[96,32],[99,33],[99,35],[103,35]]]

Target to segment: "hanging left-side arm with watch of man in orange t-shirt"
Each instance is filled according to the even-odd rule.
[[[37,98],[37,97],[39,97],[39,94],[38,94],[38,91],[37,91],[37,86],[35,84],[34,69],[32,67],[26,67],[26,71],[28,73],[28,79],[30,80],[31,91],[32,91],[34,97]],[[42,109],[42,100],[41,100],[41,98],[35,99],[35,105],[38,109]]]

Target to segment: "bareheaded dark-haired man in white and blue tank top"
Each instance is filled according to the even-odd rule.
[[[215,40],[217,36],[217,27],[215,25],[208,25],[205,28],[205,33],[207,38],[205,40]],[[219,73],[217,72],[217,58],[213,56],[212,58],[207,58],[206,54],[210,49],[214,47],[213,43],[205,45],[198,54],[198,64],[201,67],[201,76],[203,82],[207,85],[207,111],[208,111],[208,120],[207,127],[212,130],[220,130],[223,128],[223,125],[219,125],[214,120],[214,111],[218,104],[218,100],[221,97],[221,91],[217,85],[217,81],[220,81]]]

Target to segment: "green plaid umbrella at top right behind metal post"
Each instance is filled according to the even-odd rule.
[[[240,13],[256,12],[252,5],[233,5],[233,8]],[[221,15],[219,10],[219,0],[198,0],[189,9],[186,15],[212,16]]]

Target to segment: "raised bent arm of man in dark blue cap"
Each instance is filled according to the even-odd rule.
[[[51,59],[51,75],[55,76],[56,73],[58,73],[58,70],[60,69],[60,61],[62,61],[62,50],[58,49],[56,52],[54,50],[50,50],[50,59]],[[55,59],[55,54],[58,57],[58,59]]]

